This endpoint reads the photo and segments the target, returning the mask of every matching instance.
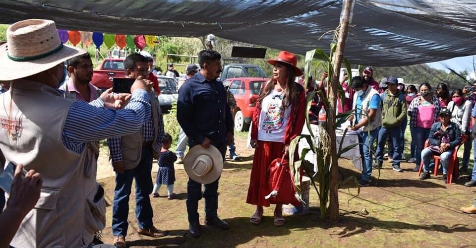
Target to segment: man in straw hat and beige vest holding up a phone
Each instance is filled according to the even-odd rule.
[[[41,174],[41,196],[23,219],[13,247],[87,247],[104,228],[104,189],[96,183],[90,142],[139,130],[150,116],[151,89],[138,78],[128,94],[104,92],[90,104],[62,98],[63,62],[84,54],[61,43],[55,22],[30,19],[12,24],[0,47],[0,149],[6,163]],[[124,109],[113,110],[105,107]]]

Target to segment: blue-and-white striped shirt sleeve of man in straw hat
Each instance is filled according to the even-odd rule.
[[[69,108],[62,132],[66,148],[81,153],[86,142],[133,133],[150,116],[150,98],[147,91],[137,89],[124,109],[104,108],[98,98],[89,104],[74,102]]]

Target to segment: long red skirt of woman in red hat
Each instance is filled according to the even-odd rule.
[[[283,148],[284,143],[281,142],[258,140],[258,148],[254,151],[246,203],[269,207],[269,199],[264,198],[270,193],[267,171],[273,160],[283,156]]]

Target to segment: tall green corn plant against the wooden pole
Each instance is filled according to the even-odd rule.
[[[327,70],[327,82],[330,82],[330,79],[332,77],[333,73],[333,53],[336,50],[336,44],[332,43],[330,45],[330,56],[328,56],[322,49],[315,49],[312,51],[308,51],[306,53],[306,59],[305,59],[305,67],[304,67],[304,73],[305,73],[305,84],[304,84],[304,90],[307,92],[307,88],[309,85],[309,67],[310,63],[312,60],[317,59],[319,62],[316,64],[318,65],[324,65],[324,68]],[[343,58],[343,62],[346,66],[347,73],[349,76],[349,82],[352,80],[352,71],[351,71],[351,66],[350,63],[346,58]],[[348,87],[351,85],[349,84]],[[329,91],[328,91],[329,92]],[[330,179],[330,165],[331,165],[331,153],[330,153],[330,136],[328,131],[324,126],[319,125],[317,128],[317,133],[314,133],[314,131],[311,128],[311,124],[309,122],[309,110],[311,107],[311,102],[314,96],[318,94],[320,99],[322,100],[324,104],[324,108],[327,113],[330,112],[330,102],[328,101],[329,95],[327,93],[327,97],[325,97],[325,93],[322,90],[314,90],[310,91],[307,93],[306,96],[306,110],[305,113],[302,113],[306,117],[306,126],[307,129],[309,130],[309,135],[299,135],[295,139],[292,140],[290,144],[290,161],[295,161],[294,156],[295,156],[295,151],[297,148],[297,144],[301,139],[305,139],[307,144],[309,145],[310,148],[304,148],[302,150],[302,153],[299,157],[299,159],[294,162],[290,163],[290,169],[292,172],[292,175],[295,176],[294,182],[296,183],[296,188],[297,188],[297,193],[300,196],[300,184],[299,184],[299,173],[298,171],[302,169],[305,172],[305,175],[311,179],[311,185],[315,188],[318,196],[319,196],[319,208],[320,208],[320,217],[321,219],[326,218],[327,213],[328,213],[328,201],[329,201],[329,179]],[[338,85],[338,95],[341,100],[342,106],[344,105],[344,100],[345,100],[345,93],[342,89],[342,85]],[[335,106],[335,104],[334,104]],[[349,120],[353,115],[355,111],[348,111],[346,113],[340,114],[336,118],[336,126],[339,126],[340,124],[345,123],[347,120]],[[366,113],[361,113],[362,116],[367,116]],[[328,120],[326,120],[327,122]],[[327,125],[325,125],[327,126]],[[334,130],[330,130],[334,131]],[[347,129],[344,131],[344,134],[341,139],[340,146],[337,151],[337,158],[340,158],[342,154],[345,152],[351,150],[352,148],[356,147],[359,145],[357,144],[352,144],[347,147],[342,147],[342,144],[344,143],[344,138],[346,136]],[[369,145],[372,147],[371,145]],[[370,149],[371,150],[371,149]],[[317,172],[314,171],[314,165],[310,163],[309,161],[305,160],[304,157],[305,155],[312,151],[315,154],[316,158],[316,165],[317,165]],[[316,182],[319,184],[319,188],[316,185]],[[352,176],[347,179],[344,179],[340,184],[343,185],[347,182],[354,182],[357,185],[357,195],[360,192],[360,188],[357,183],[357,179]]]

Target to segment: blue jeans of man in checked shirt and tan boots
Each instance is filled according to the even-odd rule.
[[[152,226],[152,206],[150,194],[152,193],[152,146],[142,147],[142,157],[139,165],[124,173],[116,173],[116,188],[114,189],[113,203],[113,235],[126,236],[127,217],[129,215],[129,195],[132,179],[135,179],[135,216],[140,229]]]

